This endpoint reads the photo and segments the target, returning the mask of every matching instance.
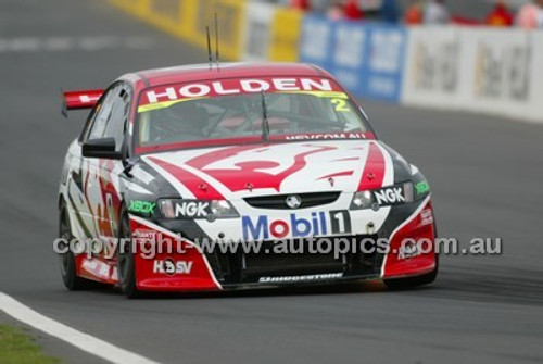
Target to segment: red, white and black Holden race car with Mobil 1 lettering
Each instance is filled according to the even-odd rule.
[[[437,277],[426,178],[318,67],[142,71],[65,92],[71,109],[91,109],[59,192],[71,290],[397,288]]]

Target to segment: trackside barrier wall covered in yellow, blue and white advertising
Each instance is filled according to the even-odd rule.
[[[330,21],[242,0],[112,2],[200,47],[217,13],[225,59],[313,63],[364,99],[543,123],[543,32]]]

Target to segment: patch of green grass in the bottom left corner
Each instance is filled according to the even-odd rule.
[[[0,363],[56,364],[60,360],[43,355],[41,348],[23,329],[0,325]]]

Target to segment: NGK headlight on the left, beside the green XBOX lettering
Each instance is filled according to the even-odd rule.
[[[226,200],[163,199],[159,201],[159,206],[164,218],[206,218],[213,222],[217,218],[239,217],[236,209]]]

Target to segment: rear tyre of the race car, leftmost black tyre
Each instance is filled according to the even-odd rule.
[[[64,204],[61,206],[59,217],[59,237],[70,242],[74,236],[70,230],[70,215]],[[66,253],[60,254],[60,261],[62,281],[68,290],[76,291],[94,287],[93,281],[77,276],[75,255],[72,250],[68,249]]]

